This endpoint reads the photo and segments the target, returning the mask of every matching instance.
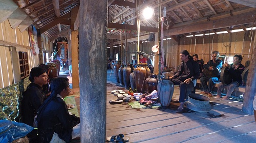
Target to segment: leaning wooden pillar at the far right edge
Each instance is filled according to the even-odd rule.
[[[249,72],[246,81],[244,102],[242,110],[249,115],[253,115],[252,102],[256,95],[256,35],[254,34],[253,49],[251,54]]]

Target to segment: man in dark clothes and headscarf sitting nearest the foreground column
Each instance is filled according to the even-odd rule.
[[[80,118],[70,115],[63,100],[69,96],[69,79],[58,77],[51,82],[51,96],[37,112],[39,142],[54,142],[59,139],[70,142],[80,137]],[[74,136],[76,134],[76,136]]]

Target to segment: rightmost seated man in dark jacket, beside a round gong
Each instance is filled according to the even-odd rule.
[[[227,94],[222,99],[228,100],[228,98],[231,96],[231,93],[239,87],[239,85],[242,85],[242,76],[245,67],[241,64],[241,61],[243,60],[242,55],[234,55],[233,57],[233,64],[229,65],[227,63],[223,64],[223,67],[228,67],[228,73],[231,74],[232,82],[228,85],[219,83],[218,85],[218,92],[217,92],[217,98],[221,97],[222,90],[227,87]]]

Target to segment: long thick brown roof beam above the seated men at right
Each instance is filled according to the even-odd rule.
[[[229,27],[241,24],[251,23],[254,20],[256,11],[251,11],[239,15],[233,15],[217,20],[211,20],[206,22],[194,22],[189,25],[184,25],[170,30],[164,31],[164,36],[179,35],[184,33],[198,32],[212,30],[216,28]]]

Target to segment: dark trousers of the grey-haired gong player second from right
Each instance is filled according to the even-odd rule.
[[[211,77],[211,78],[201,77],[200,82],[201,82],[203,91],[206,93],[210,93],[212,88],[214,88],[214,84],[216,82],[219,82],[219,78],[218,77]],[[208,82],[208,85],[207,85],[207,82]]]

